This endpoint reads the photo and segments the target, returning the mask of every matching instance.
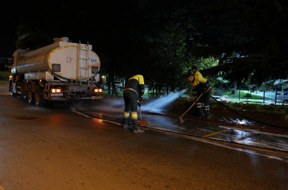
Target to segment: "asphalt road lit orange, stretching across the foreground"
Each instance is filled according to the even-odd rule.
[[[5,190],[287,189],[285,154],[148,128],[135,135],[112,121],[121,120],[123,105],[46,109],[11,97],[6,89],[0,84],[0,185]],[[220,127],[142,117],[150,125],[160,122],[199,137]],[[246,133],[226,132],[216,139],[239,140]]]

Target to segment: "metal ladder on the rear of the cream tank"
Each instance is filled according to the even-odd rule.
[[[80,79],[80,86],[89,85],[89,43],[84,44],[84,47],[81,46],[81,41],[79,41],[78,47],[78,78]],[[83,52],[82,52],[83,51]],[[82,55],[83,54],[83,55]],[[82,76],[82,71],[84,71],[84,76]],[[82,85],[82,80],[87,80],[87,83]]]

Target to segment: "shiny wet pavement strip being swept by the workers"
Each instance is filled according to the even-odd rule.
[[[252,146],[261,148],[263,151],[279,151],[288,154],[288,135],[283,133],[268,133],[265,130],[249,129],[249,125],[245,128],[239,127],[238,123],[253,124],[246,119],[239,119],[235,125],[229,123],[225,125],[224,122],[210,122],[206,119],[196,119],[195,116],[188,116],[187,119],[181,119],[179,122],[179,115],[182,115],[185,110],[171,111],[165,109],[150,108],[149,104],[142,103],[141,118],[139,121],[140,128],[153,129],[161,132],[167,132],[176,135],[183,135],[187,137],[198,137],[220,142],[227,142],[236,145]],[[152,103],[157,104],[157,100]],[[87,106],[77,110],[77,105],[72,109],[74,112],[90,116],[91,118],[103,118],[106,120],[113,120],[119,123],[123,118],[123,100],[122,98],[111,99],[106,96],[101,102],[95,102],[95,106]],[[138,110],[138,118],[140,118]],[[188,115],[188,113],[187,113]],[[223,115],[224,117],[225,115]],[[213,116],[212,116],[213,117]],[[224,118],[225,119],[225,118]],[[144,122],[147,121],[147,122]],[[131,121],[130,121],[131,123]],[[260,123],[261,124],[261,123]],[[244,124],[242,125],[244,126]],[[258,123],[259,126],[259,123]],[[268,128],[268,126],[265,126]],[[261,125],[260,128],[261,129]],[[265,150],[264,150],[265,149]]]

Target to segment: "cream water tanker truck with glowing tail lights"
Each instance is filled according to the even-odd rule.
[[[103,99],[100,59],[92,45],[72,43],[67,37],[36,50],[18,49],[13,54],[9,80],[12,96],[30,104],[51,107],[55,101],[89,102]]]

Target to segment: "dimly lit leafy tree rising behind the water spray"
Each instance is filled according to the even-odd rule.
[[[183,84],[185,74],[190,70],[190,56],[186,52],[188,33],[182,18],[186,16],[186,10],[175,9],[167,15],[163,23],[163,30],[154,43],[151,43],[149,62],[147,62],[147,74],[149,73],[149,90],[160,97],[163,88],[169,93],[170,88],[176,88]],[[153,61],[153,71],[151,71]]]

